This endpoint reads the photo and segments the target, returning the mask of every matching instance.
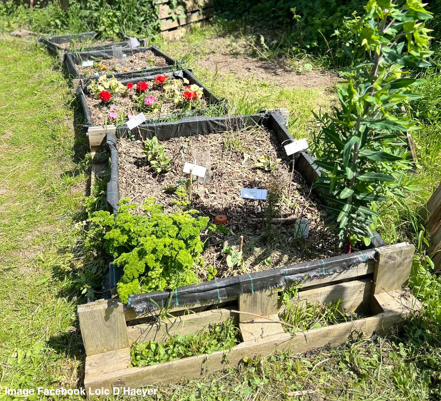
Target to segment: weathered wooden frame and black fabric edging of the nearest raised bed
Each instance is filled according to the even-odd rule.
[[[217,133],[221,140],[222,132],[242,132],[250,128],[257,130],[252,131],[256,138],[262,136],[263,128],[267,133],[272,132],[274,140],[264,142],[265,150],[271,151],[272,146],[276,155],[276,138],[279,143],[292,140],[279,113],[269,116],[189,117],[179,122],[146,125],[139,134],[143,140],[151,139],[156,134],[160,141],[176,141],[179,137],[185,137],[197,144],[202,141],[198,140],[199,135],[205,134],[207,139],[211,139],[211,135]],[[128,146],[126,142],[120,143]],[[120,194],[120,170],[114,133],[108,133],[107,145],[111,165],[107,197],[111,210],[116,210]],[[216,172],[215,155],[217,153],[213,152],[212,179]],[[217,157],[218,162],[219,159],[220,156]],[[304,186],[311,185],[317,174],[320,174],[320,170],[311,165],[312,161],[303,152],[296,157],[295,170],[304,180]],[[233,167],[234,160],[230,164]],[[138,168],[142,172],[141,162]],[[139,174],[141,177],[142,173]],[[149,182],[154,190],[152,184],[153,181]],[[201,188],[201,183],[199,185]],[[301,188],[296,188],[296,191],[301,196]],[[158,199],[163,202],[164,198]],[[234,208],[232,210],[235,211]],[[127,305],[115,297],[80,305],[78,317],[87,354],[85,386],[93,390],[179,382],[181,379],[199,378],[208,372],[234,366],[244,357],[266,356],[277,350],[303,353],[328,344],[340,345],[354,336],[370,337],[374,333],[384,334],[400,329],[404,319],[420,308],[410,292],[402,289],[409,278],[415,247],[408,243],[385,246],[379,236],[372,238],[371,244],[377,248],[251,271],[173,291],[133,295]],[[118,269],[111,266],[110,271],[110,284],[116,284]],[[301,286],[297,293],[291,291],[293,284]],[[295,294],[292,302],[301,305],[306,302],[340,302],[339,310],[346,314],[344,320],[347,321],[326,327],[315,325],[313,327],[317,328],[301,332],[287,332],[279,322],[286,317],[287,308],[280,301],[280,291]],[[161,313],[157,310],[158,306],[162,312],[165,308],[174,317],[157,320],[155,317]],[[131,366],[130,347],[134,342],[162,342],[172,335],[196,333],[230,318],[239,328],[241,336],[241,342],[230,349],[152,366]]]

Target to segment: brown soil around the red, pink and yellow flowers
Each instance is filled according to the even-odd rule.
[[[153,82],[153,81],[150,81]],[[149,95],[154,96],[157,100],[163,99],[162,91],[157,89],[151,89],[152,84],[149,82]],[[135,87],[136,85],[134,85]],[[157,117],[165,117],[169,114],[179,114],[182,112],[182,107],[178,104],[175,104],[173,101],[159,100],[158,104],[161,107],[151,111],[150,109],[144,108],[143,110],[138,110],[136,100],[133,98],[135,91],[128,90],[127,94],[118,93],[113,95],[112,102],[101,102],[100,99],[97,99],[93,95],[86,96],[86,104],[90,109],[90,113],[92,115],[92,120],[94,125],[104,125],[106,123],[106,117],[108,117],[110,110],[110,106],[117,106],[118,110],[117,114],[124,113],[127,114],[136,114],[140,111],[144,113],[147,119],[157,118]],[[205,98],[202,98],[198,101],[197,105],[200,109],[205,109],[208,107],[208,103]],[[127,121],[127,118],[126,118]]]

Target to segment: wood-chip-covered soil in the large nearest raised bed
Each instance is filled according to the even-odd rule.
[[[233,145],[232,145],[233,144]],[[164,142],[165,155],[172,159],[172,170],[156,174],[142,151],[140,141],[120,140],[118,143],[120,195],[128,197],[135,204],[142,205],[147,197],[155,197],[155,203],[164,206],[165,212],[176,212],[182,206],[173,201],[183,200],[170,194],[167,189],[176,188],[177,181],[188,180],[183,174],[185,162],[209,166],[211,177],[208,182],[193,183],[191,209],[201,216],[214,217],[223,214],[228,218],[226,227],[230,234],[216,234],[208,240],[208,247],[202,254],[206,265],[217,269],[217,278],[240,275],[264,269],[272,269],[303,261],[330,257],[342,253],[335,235],[325,225],[325,212],[297,172],[292,177],[292,189],[288,199],[288,188],[292,159],[286,156],[275,134],[263,128],[244,129],[240,132],[174,138]],[[203,162],[202,153],[206,160]],[[262,155],[272,160],[282,159],[273,172],[254,166]],[[280,201],[273,203],[279,210],[274,217],[289,219],[283,223],[267,224],[271,202],[262,202],[261,212],[257,200],[240,197],[241,188],[265,188],[277,194]],[[141,213],[139,208],[138,213]],[[262,218],[265,230],[262,229]],[[309,238],[298,239],[294,235],[294,219],[310,221]],[[221,253],[224,241],[228,245],[239,244],[243,235],[243,266],[228,268]],[[237,250],[237,246],[236,246]],[[204,280],[204,272],[199,272]]]

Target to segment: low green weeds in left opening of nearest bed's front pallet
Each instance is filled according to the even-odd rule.
[[[152,340],[133,343],[130,352],[132,366],[156,365],[188,356],[227,350],[237,344],[238,336],[239,329],[233,325],[232,319],[228,319],[209,330],[202,329],[187,336],[172,336],[164,343]]]

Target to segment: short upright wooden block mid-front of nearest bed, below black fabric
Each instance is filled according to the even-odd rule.
[[[278,303],[277,289],[243,294],[238,299],[239,312],[250,312],[263,316],[277,314]],[[246,313],[239,314],[239,322],[249,322],[255,318],[255,316]]]

